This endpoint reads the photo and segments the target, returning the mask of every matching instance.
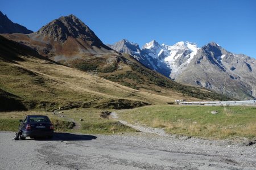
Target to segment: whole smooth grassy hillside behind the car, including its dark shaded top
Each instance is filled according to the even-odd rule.
[[[21,102],[21,109],[134,108],[167,104],[183,97],[178,93],[172,97],[138,91],[92,76],[53,62],[1,36],[0,44],[1,99]]]

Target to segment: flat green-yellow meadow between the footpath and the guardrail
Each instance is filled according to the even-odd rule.
[[[210,111],[218,111],[211,114]],[[255,107],[200,107],[152,105],[118,112],[128,122],[153,128],[164,128],[168,133],[222,139],[256,137]]]

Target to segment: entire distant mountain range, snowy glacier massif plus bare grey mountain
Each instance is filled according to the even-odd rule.
[[[230,53],[215,42],[198,48],[195,43],[188,41],[160,45],[153,40],[142,49],[138,44],[132,49],[129,46],[134,43],[125,41],[126,44],[117,42],[110,47],[118,52],[122,52],[119,49],[128,48],[123,52],[177,82],[198,85],[237,99],[256,97],[254,58]]]

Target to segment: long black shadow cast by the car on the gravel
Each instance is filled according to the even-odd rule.
[[[96,138],[97,137],[93,135],[55,132],[52,139],[36,138],[35,140],[36,141],[91,141]]]

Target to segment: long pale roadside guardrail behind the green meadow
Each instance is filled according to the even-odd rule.
[[[179,102],[181,105],[256,105],[256,100],[244,101],[191,101]]]

